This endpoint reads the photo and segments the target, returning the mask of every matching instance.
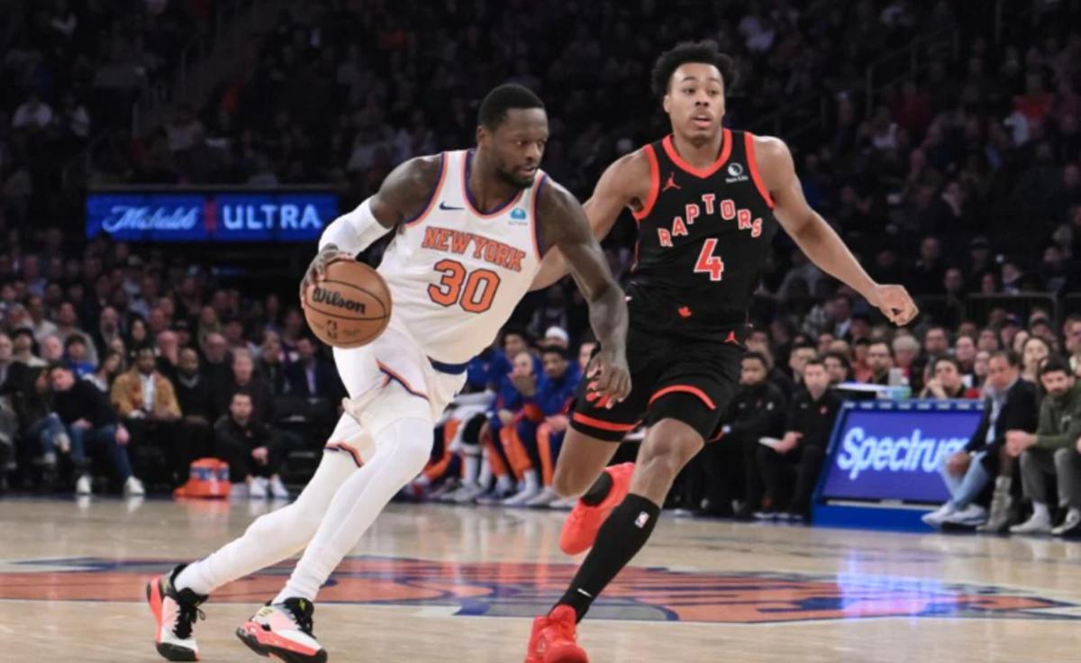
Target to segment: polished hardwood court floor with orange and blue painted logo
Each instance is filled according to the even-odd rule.
[[[0,501],[0,660],[159,661],[143,580],[266,506]],[[529,616],[573,573],[563,515],[392,505],[323,589],[331,661],[522,661]],[[202,660],[290,562],[204,606]],[[1081,543],[662,520],[582,627],[596,663],[948,663],[1081,658]],[[678,620],[678,621],[677,621]]]

